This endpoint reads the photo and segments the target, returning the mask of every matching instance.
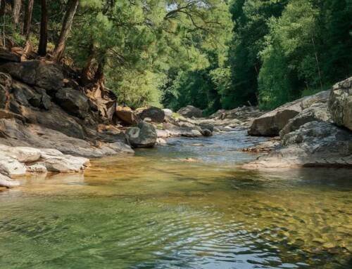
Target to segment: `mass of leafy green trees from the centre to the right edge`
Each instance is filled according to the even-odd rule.
[[[233,0],[230,12],[227,60],[182,71],[168,87],[180,97],[168,105],[271,109],[351,76],[351,0]]]

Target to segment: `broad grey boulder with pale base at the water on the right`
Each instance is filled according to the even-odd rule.
[[[282,138],[282,147],[244,168],[352,167],[352,133],[328,122],[308,122]]]

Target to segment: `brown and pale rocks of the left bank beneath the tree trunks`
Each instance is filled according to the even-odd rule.
[[[21,62],[0,49],[0,185],[25,173],[81,171],[87,157],[134,152],[116,125],[115,95],[79,81],[69,67]],[[36,157],[18,157],[28,152]]]

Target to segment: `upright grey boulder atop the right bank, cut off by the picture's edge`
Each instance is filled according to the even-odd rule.
[[[329,110],[335,124],[352,130],[352,77],[333,86]]]

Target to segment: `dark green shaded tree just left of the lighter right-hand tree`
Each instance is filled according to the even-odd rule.
[[[229,65],[232,86],[222,92],[222,105],[230,109],[258,102],[258,74],[268,19],[278,18],[288,0],[234,0],[230,11],[234,37],[230,45]]]

